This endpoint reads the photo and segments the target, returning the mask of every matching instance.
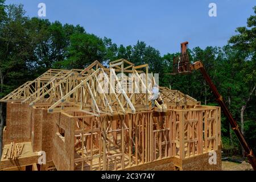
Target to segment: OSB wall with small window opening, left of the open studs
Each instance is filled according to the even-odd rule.
[[[55,115],[57,118],[57,116]],[[74,121],[73,119],[60,114],[59,120],[55,120],[55,134],[53,136],[52,160],[57,170],[74,170]],[[65,137],[57,132],[58,126],[65,130]]]

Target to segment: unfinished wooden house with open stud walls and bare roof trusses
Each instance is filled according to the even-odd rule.
[[[162,86],[152,107],[155,84],[125,59],[49,69],[0,100],[0,170],[220,170],[220,107]]]

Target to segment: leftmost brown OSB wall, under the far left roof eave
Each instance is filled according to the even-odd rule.
[[[25,104],[7,102],[5,144],[31,140],[30,109]]]

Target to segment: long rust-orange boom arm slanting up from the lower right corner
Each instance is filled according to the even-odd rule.
[[[218,93],[216,86],[213,84],[201,61],[196,61],[195,63],[191,64],[191,71],[197,69],[200,70],[200,72],[204,76],[205,81],[207,81],[208,85],[210,86],[210,89],[212,90],[214,97],[216,98],[218,104],[220,104],[221,106],[221,110],[223,111],[224,115],[228,118],[228,121],[232,129],[234,130],[234,133],[236,133],[237,138],[239,139],[243,149],[245,150],[246,156],[249,159],[251,166],[253,166],[253,169],[256,170],[256,158],[255,155],[253,154],[253,150],[251,150],[251,148],[248,146],[245,138],[243,137],[243,134],[241,133],[237,125],[237,122],[232,117],[232,114],[228,110],[228,107],[225,105],[222,96],[220,95],[220,93]]]

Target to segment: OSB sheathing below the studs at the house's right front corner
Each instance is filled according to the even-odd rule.
[[[220,171],[221,170],[221,149],[216,151],[217,164],[209,164],[209,158],[212,155],[201,154],[192,158],[182,160],[183,171]]]

